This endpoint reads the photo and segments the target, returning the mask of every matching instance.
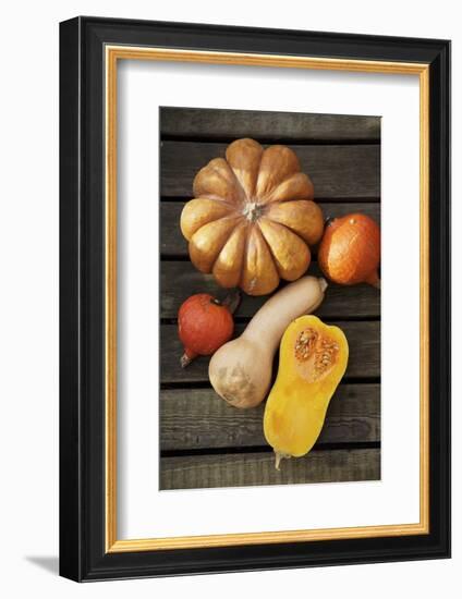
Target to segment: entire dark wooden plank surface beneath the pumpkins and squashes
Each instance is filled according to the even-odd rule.
[[[160,488],[192,489],[380,478],[380,294],[330,284],[317,315],[345,332],[349,366],[307,456],[273,466],[264,405],[229,406],[208,382],[209,358],[182,369],[177,315],[193,293],[223,297],[195,270],[179,222],[195,173],[239,137],[284,143],[299,156],[326,217],[363,212],[380,222],[380,119],[162,108],[160,112]],[[316,248],[309,273],[319,274]],[[284,284],[284,283],[281,283]],[[266,297],[243,295],[240,334]],[[278,357],[275,358],[273,376]]]

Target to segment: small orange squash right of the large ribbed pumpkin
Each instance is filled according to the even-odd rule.
[[[326,277],[341,285],[369,283],[380,288],[380,229],[366,215],[346,215],[329,221],[318,252]]]

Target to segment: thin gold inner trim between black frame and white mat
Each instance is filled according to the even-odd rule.
[[[106,551],[154,551],[239,545],[424,535],[429,533],[429,65],[328,58],[285,57],[106,46]],[[117,65],[118,60],[157,60],[390,73],[420,77],[421,135],[421,409],[420,522],[307,530],[238,533],[194,537],[117,538]]]

